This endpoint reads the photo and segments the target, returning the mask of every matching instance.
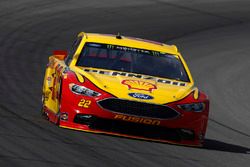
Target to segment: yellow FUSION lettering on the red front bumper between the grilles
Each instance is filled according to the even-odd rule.
[[[147,125],[160,125],[161,124],[161,121],[159,120],[127,116],[127,115],[121,115],[121,114],[115,115],[114,119],[119,119],[123,121],[134,122],[134,123],[147,124]]]

